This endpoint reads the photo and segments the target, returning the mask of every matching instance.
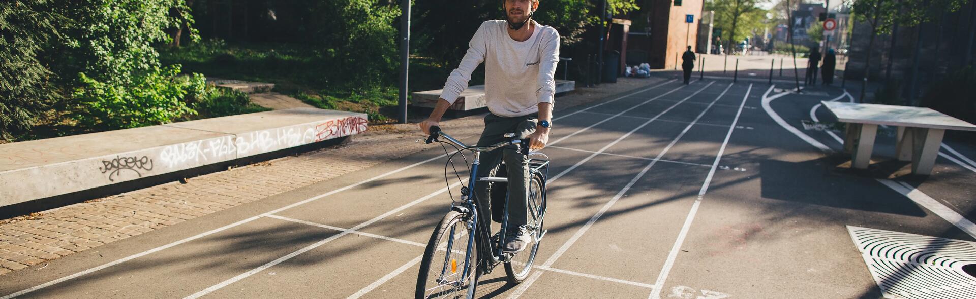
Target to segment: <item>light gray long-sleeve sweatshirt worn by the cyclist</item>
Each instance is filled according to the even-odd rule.
[[[516,117],[539,112],[539,103],[552,103],[555,65],[559,62],[559,32],[535,24],[528,40],[508,36],[508,23],[494,19],[481,23],[468,44],[468,53],[451,72],[440,97],[450,103],[468,88],[471,72],[485,62],[485,100],[488,111]]]

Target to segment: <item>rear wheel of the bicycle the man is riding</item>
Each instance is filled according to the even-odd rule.
[[[532,175],[528,189],[529,198],[526,209],[528,221],[526,227],[529,235],[532,236],[532,241],[529,244],[530,247],[515,254],[508,263],[505,263],[505,274],[511,283],[521,283],[529,277],[529,273],[532,273],[532,265],[535,263],[536,253],[539,252],[539,242],[537,241],[542,237],[543,232],[543,213],[546,210],[546,181],[542,174]]]

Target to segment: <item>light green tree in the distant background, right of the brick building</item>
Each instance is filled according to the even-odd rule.
[[[706,11],[715,12],[715,27],[722,28],[722,39],[731,53],[734,43],[750,37],[754,29],[762,28],[766,11],[758,6],[761,0],[707,0]]]

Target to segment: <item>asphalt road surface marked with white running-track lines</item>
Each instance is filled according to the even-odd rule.
[[[771,89],[668,81],[557,111],[544,150],[552,159],[549,234],[537,269],[509,285],[498,268],[482,278],[478,295],[879,298],[848,226],[974,241],[965,221],[947,221],[947,211],[883,183],[905,167],[883,161],[893,147],[882,144],[893,137],[879,134],[879,162],[854,171],[845,155],[817,149],[772,117],[840,149],[801,121],[820,100],[847,100],[843,91],[772,100]],[[813,114],[830,120],[822,108]],[[976,158],[971,146],[946,143]],[[431,146],[55,260],[45,271],[6,275],[0,295],[408,298],[427,238],[450,205],[444,162],[443,150]],[[932,176],[895,179],[976,220],[976,170],[943,157]]]

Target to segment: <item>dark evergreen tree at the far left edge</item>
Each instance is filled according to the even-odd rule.
[[[61,97],[41,56],[64,20],[49,0],[0,2],[0,141],[27,131]]]

